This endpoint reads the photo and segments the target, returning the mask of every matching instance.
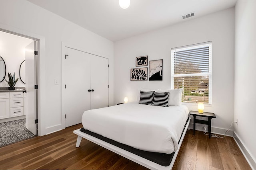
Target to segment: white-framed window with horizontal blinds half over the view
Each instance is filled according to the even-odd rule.
[[[212,42],[171,49],[172,89],[182,102],[212,104]]]

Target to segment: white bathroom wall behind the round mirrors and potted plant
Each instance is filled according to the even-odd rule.
[[[0,31],[0,56],[6,64],[5,78],[8,81],[8,72],[12,75],[15,72],[15,78],[19,78],[15,87],[25,87],[25,84],[20,81],[20,64],[25,60],[25,47],[31,42],[32,39]],[[9,85],[2,81],[0,87],[9,87]]]

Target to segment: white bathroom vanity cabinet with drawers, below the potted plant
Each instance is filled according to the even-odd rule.
[[[22,91],[0,92],[0,119],[24,115]]]

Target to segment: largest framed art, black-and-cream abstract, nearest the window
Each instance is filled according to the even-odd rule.
[[[149,61],[148,80],[163,80],[163,60]]]

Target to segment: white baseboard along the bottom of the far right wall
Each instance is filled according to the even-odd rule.
[[[253,170],[256,170],[256,160],[254,160],[254,158],[252,158],[250,152],[248,152],[248,149],[246,149],[246,147],[244,146],[242,141],[240,141],[240,139],[239,139],[238,135],[236,135],[235,131],[233,133],[233,138],[236,141],[236,144],[240,148],[241,152],[243,153],[244,157],[246,158],[248,164],[251,166],[251,168]]]

